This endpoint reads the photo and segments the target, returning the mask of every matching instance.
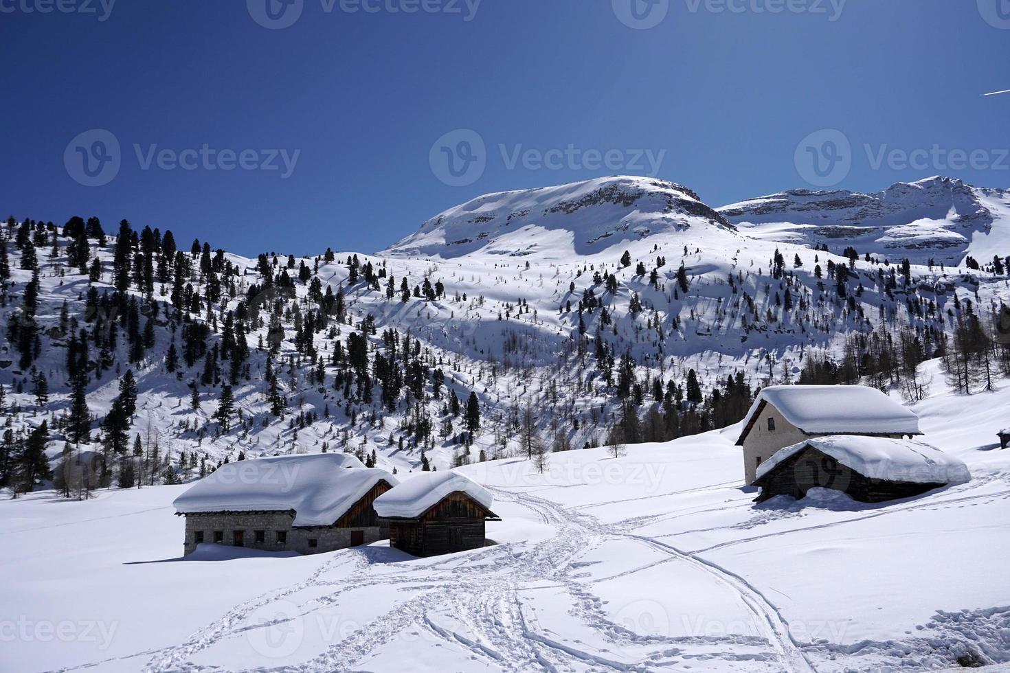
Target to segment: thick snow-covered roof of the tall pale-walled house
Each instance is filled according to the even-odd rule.
[[[754,400],[737,444],[750,431],[762,403],[807,433],[919,435],[919,417],[868,385],[770,385]]]

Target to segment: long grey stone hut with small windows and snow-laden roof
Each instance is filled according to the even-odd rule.
[[[397,483],[344,453],[278,456],[221,465],[173,504],[186,554],[201,543],[317,554],[385,539],[372,503]]]

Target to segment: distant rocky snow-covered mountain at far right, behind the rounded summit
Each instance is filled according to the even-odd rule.
[[[790,190],[717,209],[750,236],[829,247],[853,245],[898,260],[960,264],[1010,253],[1010,190],[950,178],[883,192]]]

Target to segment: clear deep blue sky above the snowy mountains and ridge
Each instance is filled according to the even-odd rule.
[[[616,10],[611,0],[484,0],[469,21],[466,0],[462,13],[414,14],[387,9],[411,0],[370,0],[377,13],[300,0],[283,29],[254,19],[270,23],[267,0],[118,0],[104,21],[100,0],[87,1],[96,13],[0,0],[4,217],[98,215],[106,230],[125,217],[247,254],[371,252],[486,192],[650,173],[644,158],[619,171],[581,158],[510,166],[500,144],[618,150],[625,163],[630,150],[665,151],[659,177],[718,206],[810,187],[795,156],[819,129],[851,144],[850,167],[828,178],[838,187],[935,174],[1010,187],[1000,152],[951,170],[935,158],[874,165],[864,149],[1010,147],[1010,94],[980,96],[1010,89],[1010,0],[849,0],[833,21],[829,0],[806,0],[826,13],[779,14],[755,11],[775,0],[733,0],[742,12],[668,0],[647,29],[618,18],[633,22],[621,0]],[[278,21],[293,16],[270,1]],[[663,16],[635,2],[642,21]],[[90,129],[120,143],[119,171],[100,187],[72,176],[78,152],[109,156],[94,134],[72,143]],[[462,187],[429,160],[456,129],[486,147],[486,170]],[[442,144],[468,155],[462,139]],[[134,144],[143,154],[250,149],[249,165],[270,149],[300,154],[287,178],[281,158],[278,171],[145,170]],[[433,153],[437,165],[444,155]]]

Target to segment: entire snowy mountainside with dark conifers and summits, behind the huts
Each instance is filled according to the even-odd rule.
[[[874,226],[893,233],[919,226],[902,220],[949,212],[944,199],[974,213],[974,199],[993,214],[988,229],[982,216],[972,220],[976,243],[988,247],[976,257],[986,264],[1010,253],[999,243],[1005,222],[996,217],[1004,193],[944,180],[889,193],[838,196],[848,206],[830,212],[845,222],[876,212],[875,221],[887,224]],[[425,455],[444,468],[516,453],[527,405],[540,432],[575,447],[604,442],[629,405],[643,423],[649,419],[643,438],[719,427],[738,420],[746,405],[714,412],[707,402],[687,402],[692,376],[709,401],[731,375],[751,390],[793,381],[811,355],[847,362],[839,375],[867,375],[867,362],[893,361],[875,351],[873,335],[909,330],[930,355],[956,326],[946,318],[954,295],[971,299],[987,321],[1010,298],[1006,269],[994,265],[967,273],[930,267],[922,254],[901,269],[903,257],[921,251],[890,248],[892,256],[879,254],[876,239],[797,233],[813,225],[734,226],[743,212],[795,217],[775,210],[775,203],[799,199],[789,194],[720,215],[686,187],[606,178],[480,197],[381,253],[315,257],[246,258],[227,253],[228,241],[173,243],[170,254],[159,240],[165,236],[149,230],[131,232],[120,250],[115,236],[75,239],[61,225],[13,222],[0,228],[11,269],[0,295],[7,336],[0,384],[14,410],[15,437],[50,422],[54,464],[64,446],[73,361],[88,373],[96,451],[130,368],[137,386],[131,436],[146,437],[149,429],[173,459],[188,454],[186,474],[194,459],[213,464],[324,446],[374,452],[387,469],[418,469]],[[890,210],[871,209],[873,199]],[[810,213],[822,213],[830,199],[808,201],[822,208]],[[28,238],[38,267],[30,293],[32,271],[19,243]],[[85,241],[89,273],[70,260]],[[858,259],[843,256],[847,246]],[[135,263],[117,281],[120,252]],[[121,301],[117,284],[125,288]],[[29,294],[37,307],[26,332]],[[69,358],[82,330],[84,352]],[[236,351],[239,336],[244,346]],[[362,343],[365,361],[351,366],[347,353]],[[269,370],[276,379],[270,395]],[[33,391],[39,373],[44,400]],[[234,398],[230,427],[216,420],[224,384]],[[725,400],[727,391],[719,392]],[[464,421],[448,402],[471,394],[482,423],[466,446]],[[287,404],[273,409],[270,397]]]

